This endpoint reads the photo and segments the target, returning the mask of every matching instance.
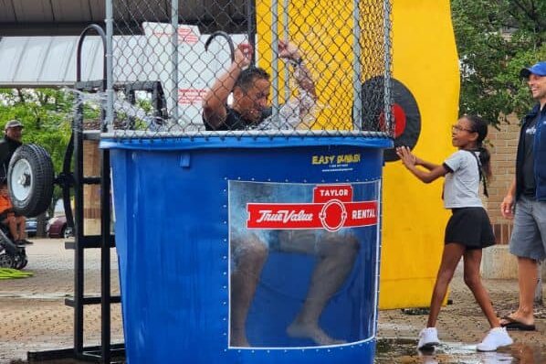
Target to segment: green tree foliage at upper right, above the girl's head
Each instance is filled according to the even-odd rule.
[[[546,59],[546,1],[452,0],[461,69],[460,112],[490,123],[533,101],[519,73]]]

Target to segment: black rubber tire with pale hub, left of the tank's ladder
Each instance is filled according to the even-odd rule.
[[[39,145],[18,147],[7,170],[9,197],[16,213],[33,218],[45,212],[53,197],[54,178],[46,149]]]

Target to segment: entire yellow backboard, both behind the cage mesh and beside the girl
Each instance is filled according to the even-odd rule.
[[[362,81],[383,75],[382,3],[360,2],[365,14]],[[320,111],[314,128],[328,129],[330,122],[352,127],[352,78],[347,76],[352,75],[353,59],[351,5],[347,0],[290,1],[289,37],[301,48],[317,80]],[[449,1],[393,0],[392,16],[394,78],[413,93],[421,112],[415,154],[441,163],[453,151],[450,125],[457,119],[459,91]],[[269,71],[271,24],[271,0],[257,1],[258,59]],[[279,65],[282,75],[283,63]],[[448,219],[442,182],[425,185],[400,162],[384,168],[381,308],[429,304]]]

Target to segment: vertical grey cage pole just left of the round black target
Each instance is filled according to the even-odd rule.
[[[352,129],[362,129],[362,67],[359,0],[352,1]]]

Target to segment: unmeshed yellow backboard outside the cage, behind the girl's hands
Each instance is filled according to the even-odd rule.
[[[459,73],[448,0],[394,0],[394,78],[412,91],[421,112],[416,155],[441,163],[454,151]],[[383,175],[380,307],[427,306],[443,249],[449,212],[443,178],[425,185],[400,162]]]

